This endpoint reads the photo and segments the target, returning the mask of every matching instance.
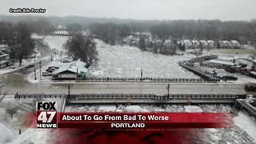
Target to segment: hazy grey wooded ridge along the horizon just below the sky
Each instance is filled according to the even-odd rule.
[[[108,27],[106,30],[113,32],[110,35],[120,35],[118,30],[122,27],[125,30],[123,34],[128,32],[150,32],[154,38],[176,38],[182,39],[212,39],[215,42],[222,40],[237,40],[240,43],[250,41],[256,44],[256,20],[250,21],[220,21],[214,20],[134,20],[134,19],[119,19],[119,18],[86,18],[78,16],[69,17],[42,17],[42,16],[7,16],[0,15],[0,19],[6,22],[37,22],[38,19],[46,19],[54,25],[72,25],[77,23],[81,29],[95,30],[96,27]],[[42,22],[39,22],[39,24]],[[121,25],[121,26],[120,26]],[[36,26],[36,25],[34,25]],[[128,27],[127,27],[128,26]],[[95,31],[94,31],[95,32]],[[106,32],[98,32],[99,37],[102,37]],[[113,41],[113,40],[110,40]],[[113,42],[110,42],[113,43]]]

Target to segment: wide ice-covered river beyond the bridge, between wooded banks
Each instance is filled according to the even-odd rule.
[[[166,56],[148,51],[142,52],[133,46],[110,46],[95,40],[98,50],[98,64],[91,66],[90,77],[139,78],[199,78],[178,66],[179,61],[194,58],[194,55]]]

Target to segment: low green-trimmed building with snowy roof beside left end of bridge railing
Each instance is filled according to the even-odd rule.
[[[86,77],[88,69],[86,63],[80,60],[73,62],[70,66],[60,67],[53,71],[52,79],[75,79],[78,77]]]

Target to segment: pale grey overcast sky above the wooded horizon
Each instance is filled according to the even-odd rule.
[[[10,8],[45,8],[44,16],[78,15],[134,19],[256,19],[256,0],[1,0],[0,14]]]

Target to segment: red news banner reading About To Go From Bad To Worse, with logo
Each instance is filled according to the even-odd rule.
[[[228,113],[57,113],[57,102],[38,102],[37,128],[180,129],[229,128]]]

